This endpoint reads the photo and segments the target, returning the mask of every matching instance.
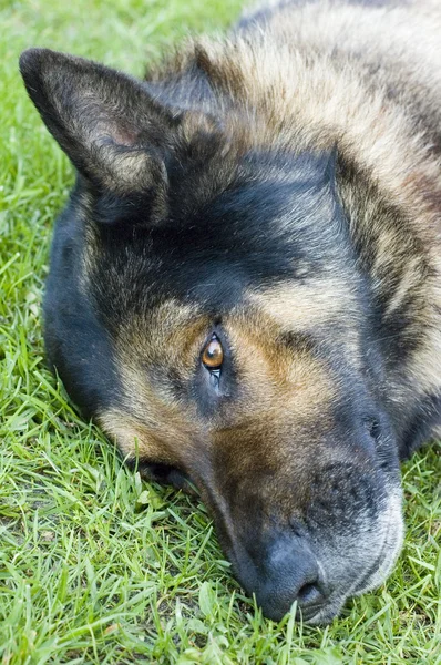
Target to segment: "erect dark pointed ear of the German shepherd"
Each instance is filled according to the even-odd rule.
[[[165,195],[165,146],[180,117],[143,84],[104,65],[29,49],[20,58],[28,93],[74,166],[114,193]]]

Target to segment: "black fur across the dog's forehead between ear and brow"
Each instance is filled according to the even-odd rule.
[[[101,225],[84,265],[120,310],[174,298],[219,313],[250,291],[324,284],[331,269],[348,269],[341,211],[329,188],[310,183],[247,181],[154,228],[142,203],[123,224],[112,214],[116,224]]]

